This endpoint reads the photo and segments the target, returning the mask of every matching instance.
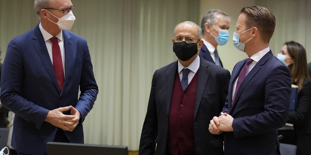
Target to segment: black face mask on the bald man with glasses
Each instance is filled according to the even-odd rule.
[[[173,51],[175,52],[178,59],[181,61],[187,61],[198,53],[198,47],[196,44],[199,41],[196,43],[186,43],[185,41],[174,42]]]

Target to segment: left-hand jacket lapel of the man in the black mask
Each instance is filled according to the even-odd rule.
[[[172,102],[172,95],[173,95],[173,88],[174,88],[174,81],[175,75],[177,71],[178,62],[176,61],[171,68],[167,70],[167,115],[170,115],[171,109],[171,102]]]

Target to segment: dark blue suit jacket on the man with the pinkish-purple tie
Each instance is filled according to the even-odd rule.
[[[223,109],[234,118],[234,131],[225,133],[225,155],[279,155],[276,130],[289,113],[290,72],[270,50],[244,78],[231,106],[233,84],[245,62],[233,68]]]

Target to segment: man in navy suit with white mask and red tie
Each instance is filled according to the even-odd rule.
[[[82,122],[98,87],[86,40],[67,31],[73,9],[70,0],[35,0],[40,23],[8,44],[1,102],[16,114],[18,155],[46,155],[49,141],[84,143]]]

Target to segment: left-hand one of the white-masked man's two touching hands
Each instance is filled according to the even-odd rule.
[[[50,124],[59,127],[66,131],[72,131],[74,128],[69,128],[67,126],[72,126],[74,122],[68,122],[66,120],[72,120],[75,118],[74,115],[65,115],[64,111],[68,111],[72,106],[62,107],[58,109],[50,110],[47,117],[44,121],[49,122]]]

